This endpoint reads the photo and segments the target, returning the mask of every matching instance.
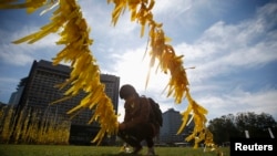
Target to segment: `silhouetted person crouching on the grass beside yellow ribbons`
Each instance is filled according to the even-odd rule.
[[[153,112],[147,98],[141,97],[130,84],[120,89],[120,97],[125,101],[125,116],[119,125],[119,137],[133,147],[132,154],[138,154],[143,148],[141,142],[145,141],[147,155],[155,155],[154,137],[160,126],[151,122]]]

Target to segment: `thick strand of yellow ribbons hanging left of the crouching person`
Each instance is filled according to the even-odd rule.
[[[101,126],[93,142],[101,143],[106,134],[114,135],[117,133],[117,115],[114,112],[112,101],[104,92],[104,85],[100,81],[100,69],[89,48],[93,43],[93,40],[89,39],[90,29],[82,17],[76,1],[27,0],[23,3],[4,1],[1,2],[0,8],[27,8],[28,13],[31,13],[41,7],[47,7],[48,10],[53,6],[57,6],[58,9],[53,12],[49,24],[42,27],[40,31],[17,40],[13,43],[34,43],[43,37],[61,30],[59,33],[61,38],[57,44],[64,44],[65,48],[57,54],[53,63],[59,64],[61,61],[71,62],[72,71],[70,79],[59,85],[60,89],[70,85],[70,89],[64,93],[65,97],[53,103],[75,96],[80,91],[88,93],[81,103],[68,113],[72,114],[85,107],[93,110],[93,116],[89,122],[96,121]]]

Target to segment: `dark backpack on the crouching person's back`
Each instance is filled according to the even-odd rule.
[[[145,96],[144,96],[145,97]],[[153,118],[151,119],[151,122],[153,122],[154,124],[156,124],[157,126],[162,127],[163,126],[163,113],[160,108],[158,103],[156,103],[153,98],[151,97],[146,97],[147,101],[150,102],[150,105],[152,107],[153,111]]]

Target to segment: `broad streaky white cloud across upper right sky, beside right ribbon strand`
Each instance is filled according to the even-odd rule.
[[[193,72],[195,80],[205,81],[239,67],[260,67],[277,60],[277,43],[274,40],[277,32],[268,33],[265,20],[268,17],[265,18],[265,14],[236,25],[219,21],[208,28],[195,43],[184,42],[176,45],[175,50],[185,55],[185,66],[196,66]]]

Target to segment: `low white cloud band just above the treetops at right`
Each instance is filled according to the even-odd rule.
[[[206,95],[201,97],[199,103],[206,107],[208,118],[239,112],[267,113],[277,118],[276,90],[250,93],[242,90],[233,91],[228,95]]]

